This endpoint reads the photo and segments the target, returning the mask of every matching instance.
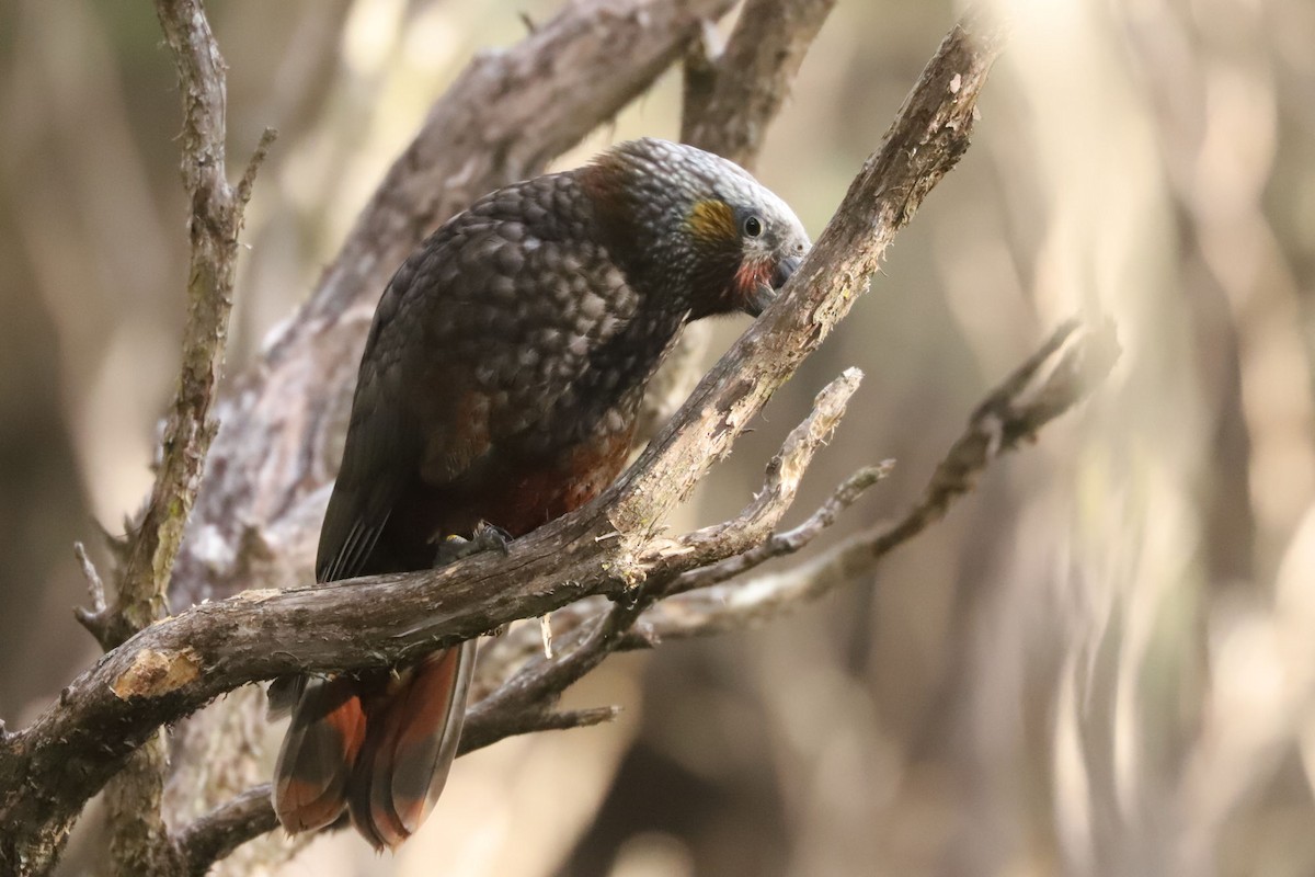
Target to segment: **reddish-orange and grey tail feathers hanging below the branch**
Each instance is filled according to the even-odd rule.
[[[283,827],[313,831],[347,809],[376,849],[413,835],[456,757],[473,671],[472,640],[383,684],[345,676],[308,681],[274,772]]]

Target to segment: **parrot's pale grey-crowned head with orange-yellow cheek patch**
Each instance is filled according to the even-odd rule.
[[[756,317],[810,246],[785,201],[734,162],[693,146],[621,143],[584,180],[630,283],[690,320]]]

